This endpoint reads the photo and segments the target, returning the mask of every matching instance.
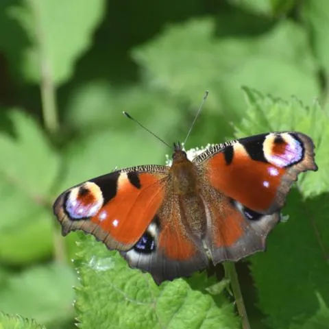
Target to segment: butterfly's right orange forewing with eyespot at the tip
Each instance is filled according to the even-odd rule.
[[[280,209],[298,173],[317,170],[312,140],[273,132],[215,145],[193,162],[217,191],[261,213]]]

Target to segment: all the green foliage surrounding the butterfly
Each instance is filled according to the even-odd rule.
[[[1,0],[0,328],[240,328],[225,282],[204,272],[158,287],[94,239],[63,239],[51,213],[74,184],[164,163],[123,110],[182,141],[206,89],[187,147],[314,139],[319,171],[238,270],[252,328],[328,328],[328,33],[325,0]]]

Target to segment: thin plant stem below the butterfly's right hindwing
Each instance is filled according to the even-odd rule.
[[[238,274],[236,273],[235,264],[233,262],[223,263],[225,269],[225,276],[230,280],[232,292],[236,302],[236,308],[241,317],[241,323],[243,329],[250,329],[249,320],[247,317],[247,311],[245,310],[245,303],[240,289]]]

